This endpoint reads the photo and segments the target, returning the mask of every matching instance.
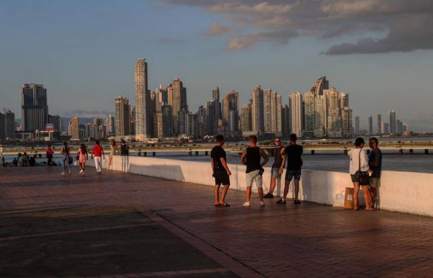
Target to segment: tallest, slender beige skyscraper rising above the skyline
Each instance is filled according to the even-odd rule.
[[[137,141],[145,141],[148,137],[147,94],[147,62],[146,59],[140,58],[135,65],[135,138]]]

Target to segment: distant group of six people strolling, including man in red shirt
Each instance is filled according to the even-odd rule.
[[[112,167],[112,159],[113,156],[116,155],[117,150],[120,151],[122,156],[129,155],[129,146],[125,143],[124,140],[122,140],[122,143],[119,147],[116,146],[116,142],[114,140],[111,141],[107,169],[110,169],[110,166]],[[50,166],[54,154],[50,145],[48,146],[46,152],[48,158],[48,165]],[[102,160],[105,160],[105,153],[99,141],[95,141],[95,146],[93,146],[92,151],[88,151],[85,144],[81,144],[80,148],[78,148],[78,151],[76,153],[76,161],[80,166],[79,174],[84,175],[85,173],[86,162],[89,160],[89,153],[91,154],[91,159],[95,161],[96,173],[99,175],[102,174]],[[63,147],[62,150],[60,151],[60,154],[62,155],[62,165],[63,165],[62,175],[65,174],[66,168],[69,171],[69,174],[72,174],[70,165],[73,162],[73,158],[71,154],[71,149],[70,147],[68,147],[68,144],[66,142],[63,143]]]

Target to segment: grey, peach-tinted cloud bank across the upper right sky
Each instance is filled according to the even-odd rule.
[[[154,0],[156,1],[156,0]],[[431,0],[160,0],[171,5],[199,7],[222,15],[209,35],[228,37],[228,50],[260,43],[285,44],[294,36],[335,39],[351,36],[324,50],[325,55],[411,52],[433,49]],[[230,28],[229,28],[230,27]],[[229,28],[229,29],[227,29]],[[279,36],[277,36],[277,34]]]

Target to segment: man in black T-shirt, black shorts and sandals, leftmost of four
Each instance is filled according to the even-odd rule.
[[[225,202],[225,196],[230,186],[229,175],[231,175],[231,172],[228,169],[225,151],[222,148],[224,145],[224,137],[222,135],[216,135],[215,139],[216,146],[213,147],[211,151],[212,171],[214,173],[213,177],[215,177],[215,206],[229,207],[230,205]],[[219,188],[221,184],[224,188],[221,192],[221,199],[219,199]]]

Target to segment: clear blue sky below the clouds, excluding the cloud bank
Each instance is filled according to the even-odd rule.
[[[332,86],[349,93],[353,117],[361,117],[362,128],[368,116],[386,118],[388,110],[396,110],[411,129],[433,131],[433,51],[425,47],[321,54],[367,35],[386,35],[381,30],[330,38],[305,32],[287,43],[257,36],[260,43],[248,41],[248,47],[229,50],[233,36],[258,27],[187,0],[175,2],[186,5],[170,2],[2,2],[0,108],[20,118],[20,86],[33,82],[46,86],[50,114],[112,112],[119,94],[134,102],[134,64],[142,57],[148,62],[149,88],[180,77],[193,112],[211,98],[215,86],[221,95],[239,91],[241,105],[257,84],[278,91],[287,103],[289,92],[304,92],[325,75]],[[232,30],[207,35],[215,22]]]

